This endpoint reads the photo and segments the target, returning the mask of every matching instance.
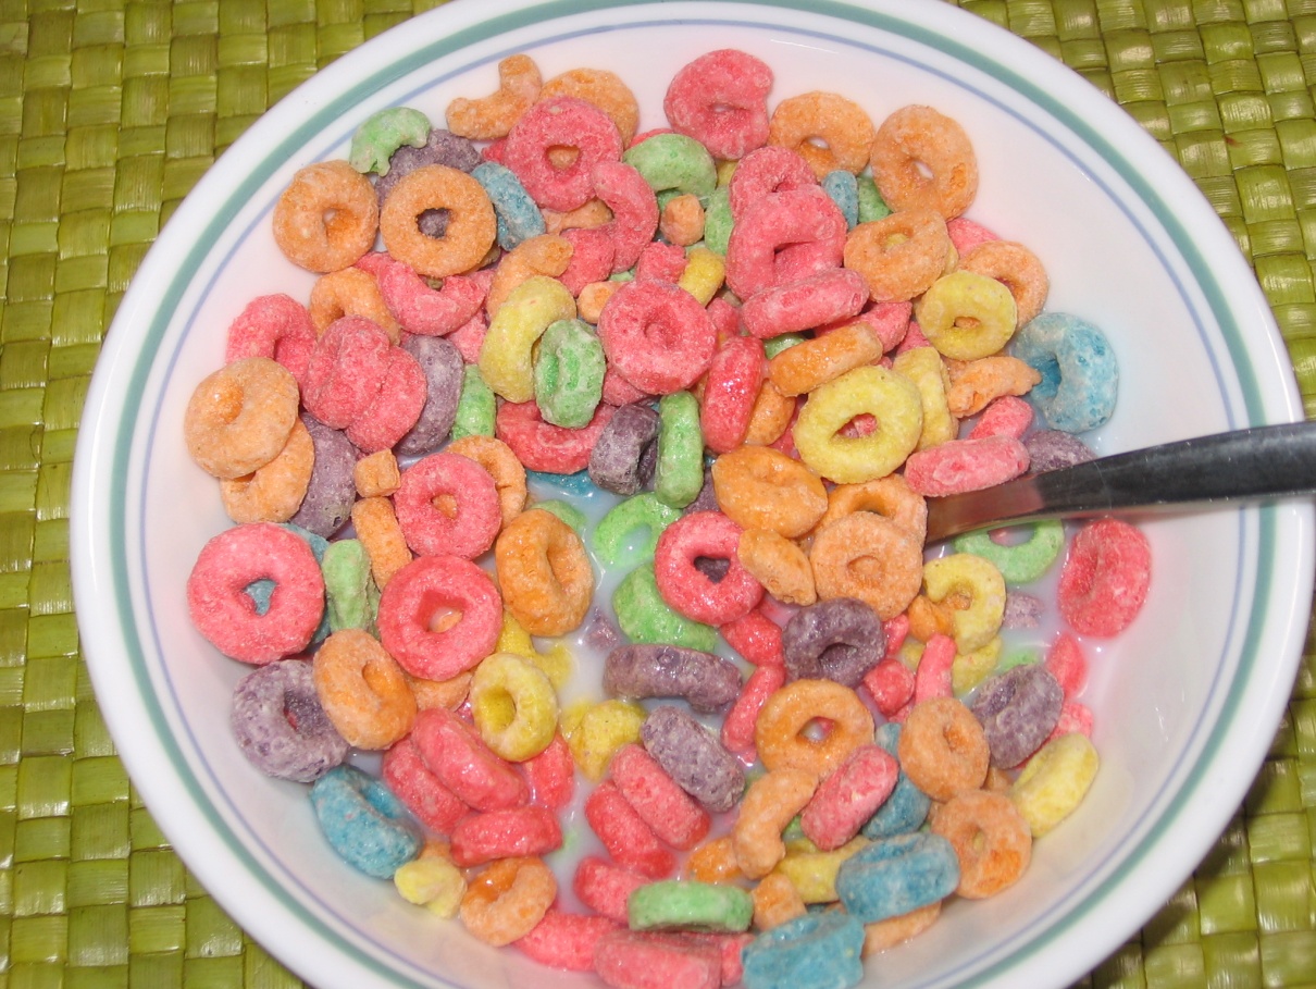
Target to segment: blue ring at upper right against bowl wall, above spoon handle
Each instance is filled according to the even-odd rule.
[[[1105,334],[1091,323],[1044,312],[1019,331],[1013,350],[1042,375],[1029,398],[1053,429],[1083,433],[1115,412],[1120,369]]]

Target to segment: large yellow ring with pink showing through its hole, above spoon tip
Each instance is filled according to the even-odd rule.
[[[840,436],[851,419],[871,415],[869,436]],[[923,399],[903,374],[855,367],[815,388],[795,420],[795,448],[816,474],[837,483],[886,477],[913,453],[923,433]]]

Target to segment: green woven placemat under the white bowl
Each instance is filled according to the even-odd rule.
[[[0,989],[299,980],[142,807],[79,656],[68,481],[105,325],[216,154],[434,3],[0,0]],[[1080,71],[1252,259],[1316,414],[1316,0],[963,0]],[[1259,730],[1269,731],[1269,726]],[[1316,986],[1316,641],[1233,823],[1092,986]]]

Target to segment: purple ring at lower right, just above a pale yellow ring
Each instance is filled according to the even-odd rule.
[[[1013,769],[1055,728],[1065,690],[1049,669],[1029,662],[983,681],[969,705],[983,726],[991,761]]]

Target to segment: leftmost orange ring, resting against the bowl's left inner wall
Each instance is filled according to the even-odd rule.
[[[245,357],[196,386],[183,414],[183,439],[207,474],[236,478],[279,456],[297,421],[297,381],[268,357]]]

